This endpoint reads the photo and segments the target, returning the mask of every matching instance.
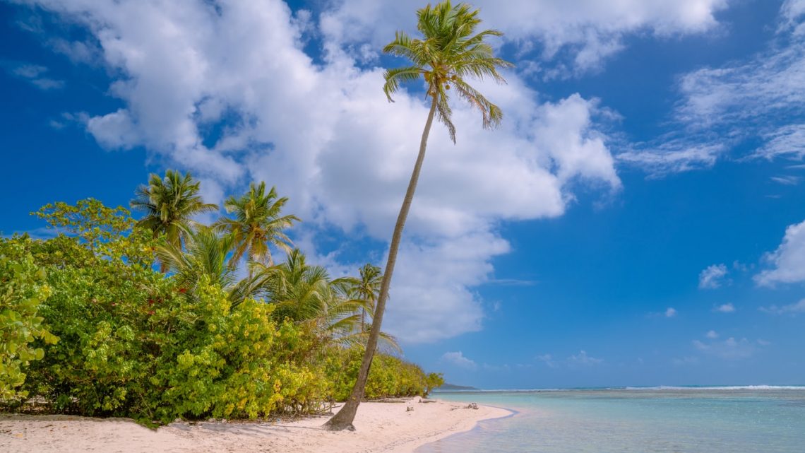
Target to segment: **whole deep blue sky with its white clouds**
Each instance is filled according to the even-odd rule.
[[[516,64],[437,128],[386,329],[484,388],[805,384],[805,2],[477,2]],[[0,231],[148,173],[291,197],[333,275],[384,260],[427,115],[382,95],[417,2],[0,2]]]

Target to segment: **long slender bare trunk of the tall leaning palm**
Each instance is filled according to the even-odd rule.
[[[411,173],[411,181],[408,182],[408,190],[403,199],[403,206],[400,207],[400,213],[397,216],[397,223],[394,225],[394,235],[391,236],[391,244],[389,246],[389,260],[386,262],[386,272],[383,272],[383,281],[380,285],[380,294],[378,295],[378,305],[374,309],[374,317],[372,318],[372,326],[369,328],[369,340],[366,342],[366,351],[363,354],[363,361],[361,368],[357,373],[357,380],[352,393],[349,394],[349,399],[344,403],[344,407],[338,411],[324,424],[324,428],[333,431],[340,430],[355,430],[353,420],[357,413],[357,406],[361,404],[363,399],[366,380],[369,378],[369,368],[372,366],[372,359],[374,358],[374,351],[378,347],[378,338],[380,337],[380,326],[383,322],[383,312],[386,311],[386,299],[389,297],[389,287],[391,284],[391,274],[394,272],[394,264],[397,262],[397,251],[400,245],[400,239],[403,237],[403,228],[405,221],[408,217],[408,211],[411,210],[411,202],[414,199],[414,192],[416,191],[416,183],[419,181],[419,172],[422,170],[422,162],[425,160],[425,148],[427,147],[427,135],[431,133],[431,125],[433,124],[433,116],[436,114],[436,97],[433,96],[431,102],[431,111],[427,114],[427,122],[425,129],[422,132],[422,141],[419,142],[419,156],[416,157],[416,164],[414,164],[414,172]]]

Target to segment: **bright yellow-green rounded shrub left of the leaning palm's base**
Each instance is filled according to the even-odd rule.
[[[184,324],[149,379],[163,391],[155,418],[256,418],[306,412],[321,401],[324,383],[293,359],[309,347],[298,327],[278,326],[272,305],[253,300],[230,312],[221,289],[201,287],[197,298],[180,297],[174,310],[155,314]],[[191,312],[192,318],[177,316]]]

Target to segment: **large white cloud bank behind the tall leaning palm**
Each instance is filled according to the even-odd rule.
[[[650,19],[625,29],[709,27],[708,8],[717,3],[683,2],[690,15],[679,12],[684,6],[666,19],[646,12]],[[219,197],[251,180],[276,185],[291,196],[289,212],[305,219],[312,247],[333,228],[346,237],[390,236],[427,108],[418,94],[386,102],[382,69],[365,64],[371,52],[355,52],[337,32],[353,25],[351,3],[320,23],[278,0],[31,4],[89,31],[92,42],[59,42],[95,49],[113,74],[109,95],[124,106],[81,116],[101,146],[145,147]],[[414,14],[405,6],[399,17]],[[320,60],[303,50],[316,34],[327,38]],[[377,49],[373,43],[364,44]],[[439,127],[431,133],[384,326],[405,342],[481,328],[483,301],[473,286],[510,250],[499,222],[562,215],[578,185],[621,187],[596,99],[541,102],[516,74],[506,77],[508,85],[479,84],[506,112],[501,129],[481,131],[478,115],[456,103],[458,145]]]

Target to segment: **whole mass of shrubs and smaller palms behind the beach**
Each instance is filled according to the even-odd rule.
[[[287,198],[263,183],[209,225],[199,189],[169,170],[138,189],[139,220],[91,198],[57,202],[35,213],[54,237],[0,239],[0,406],[153,425],[326,412],[348,396],[376,268],[360,273],[374,272],[367,285],[308,264],[291,248]],[[378,334],[366,397],[440,382]]]

